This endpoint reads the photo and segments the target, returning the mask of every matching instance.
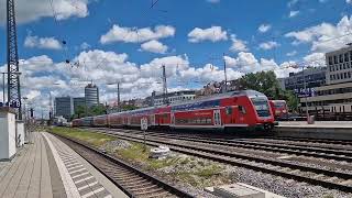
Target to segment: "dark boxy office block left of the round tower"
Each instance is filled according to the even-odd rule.
[[[55,98],[55,117],[64,117],[70,120],[74,114],[74,102],[70,97],[57,97]]]

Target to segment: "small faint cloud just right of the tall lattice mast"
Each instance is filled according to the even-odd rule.
[[[62,44],[55,37],[38,37],[29,34],[24,40],[24,46],[31,48],[62,50]]]

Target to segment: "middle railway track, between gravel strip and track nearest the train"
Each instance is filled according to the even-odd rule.
[[[143,136],[140,134],[122,134],[110,130],[100,131],[99,133],[113,135],[121,140],[143,143]],[[213,147],[209,147],[206,144],[204,146],[200,146],[189,144],[189,142],[175,142],[167,138],[146,138],[146,144],[151,146],[158,146],[160,144],[164,144],[168,145],[170,150],[175,152],[245,167],[272,175],[277,175],[288,179],[295,179],[297,182],[309,183],[312,185],[339,189],[348,193],[352,191],[352,174],[348,173],[327,170],[317,167],[309,167],[264,157],[217,150]]]

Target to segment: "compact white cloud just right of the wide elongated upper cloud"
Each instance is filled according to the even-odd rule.
[[[228,40],[227,31],[222,31],[221,26],[211,26],[209,29],[195,28],[188,33],[188,41],[199,43],[202,41],[219,42]]]

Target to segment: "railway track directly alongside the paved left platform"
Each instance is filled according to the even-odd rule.
[[[56,134],[57,135],[57,134]],[[82,142],[57,135],[106,175],[129,197],[193,197],[191,195]]]

